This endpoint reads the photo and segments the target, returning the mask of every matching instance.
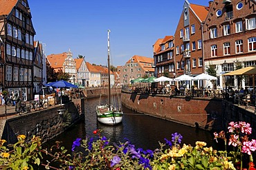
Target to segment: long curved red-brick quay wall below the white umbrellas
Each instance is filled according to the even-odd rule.
[[[255,131],[254,112],[221,98],[198,98],[122,91],[122,105],[138,113],[209,131],[226,129],[230,121],[246,121]]]

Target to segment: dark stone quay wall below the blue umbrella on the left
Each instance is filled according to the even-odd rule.
[[[61,134],[63,131],[71,127],[81,118],[84,118],[84,111],[77,110],[80,108],[84,99],[75,101],[75,103],[66,103],[64,105],[55,105],[48,109],[22,114],[21,116],[13,116],[8,119],[0,120],[1,139],[7,140],[8,143],[17,142],[17,136],[24,134],[27,140],[33,136],[42,138],[42,142],[46,142]]]

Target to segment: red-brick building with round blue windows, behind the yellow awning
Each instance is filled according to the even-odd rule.
[[[226,2],[226,3],[223,3]],[[226,85],[238,88],[237,79],[222,75],[236,69],[256,64],[256,1],[212,1],[203,24],[205,66],[217,70],[217,87]],[[251,85],[246,78],[242,83]]]

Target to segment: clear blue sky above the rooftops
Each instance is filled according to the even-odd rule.
[[[173,35],[185,0],[28,0],[37,34],[46,55],[71,49],[89,63],[107,64],[107,30],[111,30],[112,64],[131,56],[153,56],[157,39]],[[190,0],[208,6],[208,0]]]

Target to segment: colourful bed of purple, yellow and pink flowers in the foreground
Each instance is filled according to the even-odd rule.
[[[170,140],[165,139],[165,143],[159,142],[159,149],[154,151],[136,148],[129,140],[109,145],[109,140],[100,135],[101,130],[93,131],[95,138],[77,138],[71,151],[60,142],[50,149],[42,149],[38,137],[25,142],[26,136],[20,135],[19,141],[8,147],[4,145],[5,140],[0,140],[0,169],[33,169],[33,164],[46,169],[255,169],[256,140],[249,139],[250,124],[231,122],[229,125],[227,133],[215,132],[214,139],[224,140],[232,151],[217,151],[201,141],[195,147],[181,146],[183,137],[178,133],[172,134]],[[46,155],[51,159],[44,163],[42,158]],[[247,158],[249,164],[243,164]]]

